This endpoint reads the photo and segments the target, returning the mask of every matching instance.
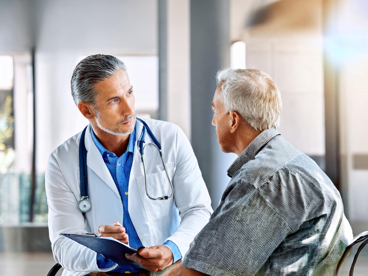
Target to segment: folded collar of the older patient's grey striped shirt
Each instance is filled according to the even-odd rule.
[[[268,128],[262,131],[244,151],[238,156],[237,159],[227,169],[227,175],[233,177],[233,175],[249,160],[254,159],[257,153],[265,146],[273,137],[280,135],[279,131],[275,127]]]

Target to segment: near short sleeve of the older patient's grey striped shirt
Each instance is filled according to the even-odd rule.
[[[209,275],[255,275],[290,229],[253,185],[227,191],[183,265]]]

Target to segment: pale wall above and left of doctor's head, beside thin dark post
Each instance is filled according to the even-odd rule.
[[[88,123],[70,91],[79,57],[157,54],[157,1],[36,0],[35,9],[36,146],[42,172],[49,153]]]

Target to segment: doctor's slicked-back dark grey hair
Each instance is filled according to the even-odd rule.
[[[80,61],[71,77],[71,95],[75,104],[91,103],[96,109],[98,92],[95,84],[112,77],[121,69],[127,69],[123,61],[105,54],[94,54]]]

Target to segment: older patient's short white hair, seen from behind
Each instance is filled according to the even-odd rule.
[[[259,131],[279,126],[281,94],[265,72],[225,68],[217,72],[218,84],[221,84],[226,112],[237,112]]]

